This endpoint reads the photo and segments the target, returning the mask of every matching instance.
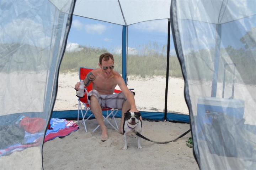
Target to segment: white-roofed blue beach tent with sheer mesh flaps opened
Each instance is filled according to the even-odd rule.
[[[24,142],[26,134],[15,126],[24,117],[47,129],[73,15],[123,27],[125,81],[128,26],[166,19],[185,80],[184,96],[199,168],[255,169],[255,0],[2,0],[0,10],[2,148],[9,142]],[[168,83],[169,50],[166,60]],[[159,115],[160,120],[180,121],[180,117],[168,118],[174,114],[166,109],[144,117],[150,118],[150,114]],[[44,132],[36,135],[36,141],[22,143],[27,152],[1,156],[0,168],[20,169],[23,160],[30,159],[25,168],[42,169]]]

